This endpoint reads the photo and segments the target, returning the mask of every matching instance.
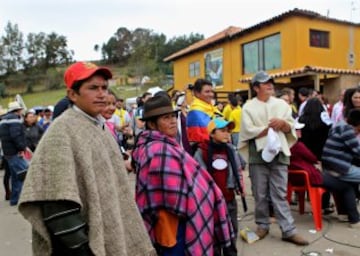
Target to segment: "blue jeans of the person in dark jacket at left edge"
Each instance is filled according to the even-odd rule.
[[[9,165],[11,177],[10,205],[17,205],[23,185],[23,182],[18,178],[18,172],[27,169],[28,163],[24,158],[19,157],[18,155],[7,156],[6,160]]]

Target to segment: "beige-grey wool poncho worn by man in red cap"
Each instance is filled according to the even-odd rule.
[[[20,213],[32,224],[33,254],[51,255],[40,202],[68,200],[81,205],[95,255],[156,255],[128,184],[112,135],[68,109],[38,145],[19,202]]]

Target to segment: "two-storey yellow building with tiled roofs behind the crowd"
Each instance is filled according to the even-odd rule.
[[[358,43],[356,43],[358,42]],[[277,88],[311,87],[330,102],[360,82],[360,24],[294,9],[246,29],[229,27],[164,59],[173,62],[174,89],[197,78],[215,92],[241,91],[266,70]]]

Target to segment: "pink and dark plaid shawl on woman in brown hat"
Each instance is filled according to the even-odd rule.
[[[158,131],[139,135],[133,160],[136,202],[152,242],[159,209],[186,222],[186,255],[213,255],[234,237],[226,203],[209,173],[175,139]]]

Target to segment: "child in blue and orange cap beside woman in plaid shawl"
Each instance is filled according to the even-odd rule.
[[[228,122],[223,118],[211,120],[207,126],[210,141],[199,144],[194,158],[202,167],[208,170],[222,191],[234,232],[237,235],[238,223],[235,193],[244,196],[242,170],[245,168],[245,161],[230,143],[230,134],[233,128],[234,123]],[[232,240],[230,247],[223,249],[223,254],[220,251],[215,251],[214,255],[237,255],[236,237]]]

